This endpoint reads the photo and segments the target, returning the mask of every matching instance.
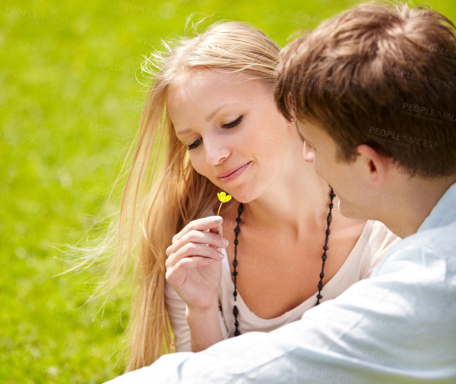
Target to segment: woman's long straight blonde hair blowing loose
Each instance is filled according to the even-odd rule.
[[[279,58],[279,47],[269,37],[236,21],[218,21],[201,34],[161,44],[163,49],[150,53],[141,65],[150,79],[150,89],[138,132],[124,161],[128,176],[115,222],[118,233],[105,240],[105,244],[113,239],[117,244],[104,287],[113,287],[124,278],[127,267],[121,266],[128,266],[131,249],[138,247],[133,279],[138,283],[134,297],[140,300],[132,300],[130,310],[126,371],[150,365],[174,350],[164,300],[166,248],[185,225],[216,205],[219,192],[193,169],[187,147],[176,137],[170,117],[174,111],[166,108],[168,86],[198,69],[223,68],[238,72],[243,79],[270,85],[272,92]],[[120,179],[121,175],[114,187]],[[137,212],[139,203],[141,209]],[[125,232],[139,236],[118,236]]]

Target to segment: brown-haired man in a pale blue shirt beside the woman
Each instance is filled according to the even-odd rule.
[[[451,21],[405,5],[358,5],[290,43],[276,100],[322,148],[306,159],[343,215],[404,240],[300,321],[112,383],[455,383],[455,52]]]

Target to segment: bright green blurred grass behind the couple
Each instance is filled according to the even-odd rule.
[[[72,384],[81,377],[102,383],[124,369],[124,364],[114,367],[113,354],[127,323],[128,291],[109,297],[102,320],[75,322],[90,320],[98,309],[95,304],[79,308],[88,297],[81,282],[90,276],[52,277],[63,263],[51,245],[78,241],[91,224],[86,214],[103,205],[100,197],[114,180],[126,136],[138,127],[141,108],[135,105],[145,93],[132,73],[141,54],[159,39],[181,34],[181,20],[192,12],[251,22],[283,43],[292,32],[316,26],[302,25],[301,16],[291,19],[292,11],[319,22],[355,3],[132,1],[6,0],[0,5],[1,383]],[[425,4],[456,18],[451,0]],[[147,20],[126,9],[138,6],[172,15],[171,20],[153,15]],[[24,10],[48,18],[46,26],[17,18]],[[114,71],[105,72],[107,63]],[[126,69],[116,71],[116,66]],[[17,83],[21,76],[40,81]],[[99,137],[96,124],[115,132]],[[96,192],[78,195],[83,184]],[[58,307],[69,315],[53,317]],[[79,314],[71,312],[78,308]]]

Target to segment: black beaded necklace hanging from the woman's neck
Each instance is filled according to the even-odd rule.
[[[321,260],[323,261],[323,263],[321,264],[321,272],[320,272],[320,282],[318,283],[318,294],[316,295],[316,306],[318,304],[320,304],[320,299],[323,298],[323,296],[321,296],[321,289],[323,288],[323,277],[325,276],[325,274],[323,273],[323,271],[325,270],[325,261],[326,261],[326,251],[328,250],[328,238],[329,238],[329,234],[331,233],[331,231],[329,230],[329,225],[331,225],[331,221],[332,221],[332,215],[331,215],[331,210],[333,208],[333,204],[332,204],[332,200],[336,197],[336,194],[334,193],[334,190],[331,188],[331,193],[329,194],[331,196],[331,202],[329,203],[329,214],[328,214],[328,217],[326,218],[326,222],[327,222],[327,228],[326,228],[326,240],[325,240],[325,246],[323,247],[323,255],[321,255]],[[238,260],[237,260],[237,256],[238,256],[238,244],[239,244],[239,241],[238,241],[238,235],[239,233],[241,232],[241,230],[239,229],[239,224],[241,223],[242,219],[241,219],[241,214],[242,212],[244,211],[244,206],[242,205],[242,203],[239,204],[239,208],[238,208],[238,218],[236,219],[236,222],[238,223],[236,225],[236,228],[234,228],[234,236],[235,236],[235,239],[234,239],[234,260],[233,260],[233,276],[234,276],[234,291],[233,291],[233,296],[234,296],[234,301],[236,301],[236,296],[238,296],[238,291],[236,289],[236,276],[238,276],[238,272],[236,271],[236,267],[238,266]],[[238,311],[238,307],[235,305],[233,307],[233,315],[234,315],[234,326],[236,327],[236,330],[234,331],[234,336],[239,336],[241,333],[239,332],[238,330],[238,326],[239,326],[239,322],[238,322],[238,314],[239,314],[239,311]]]

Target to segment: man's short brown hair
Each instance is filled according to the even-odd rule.
[[[351,162],[368,144],[412,169],[456,170],[456,37],[426,7],[365,3],[291,41],[275,98],[317,123]]]

